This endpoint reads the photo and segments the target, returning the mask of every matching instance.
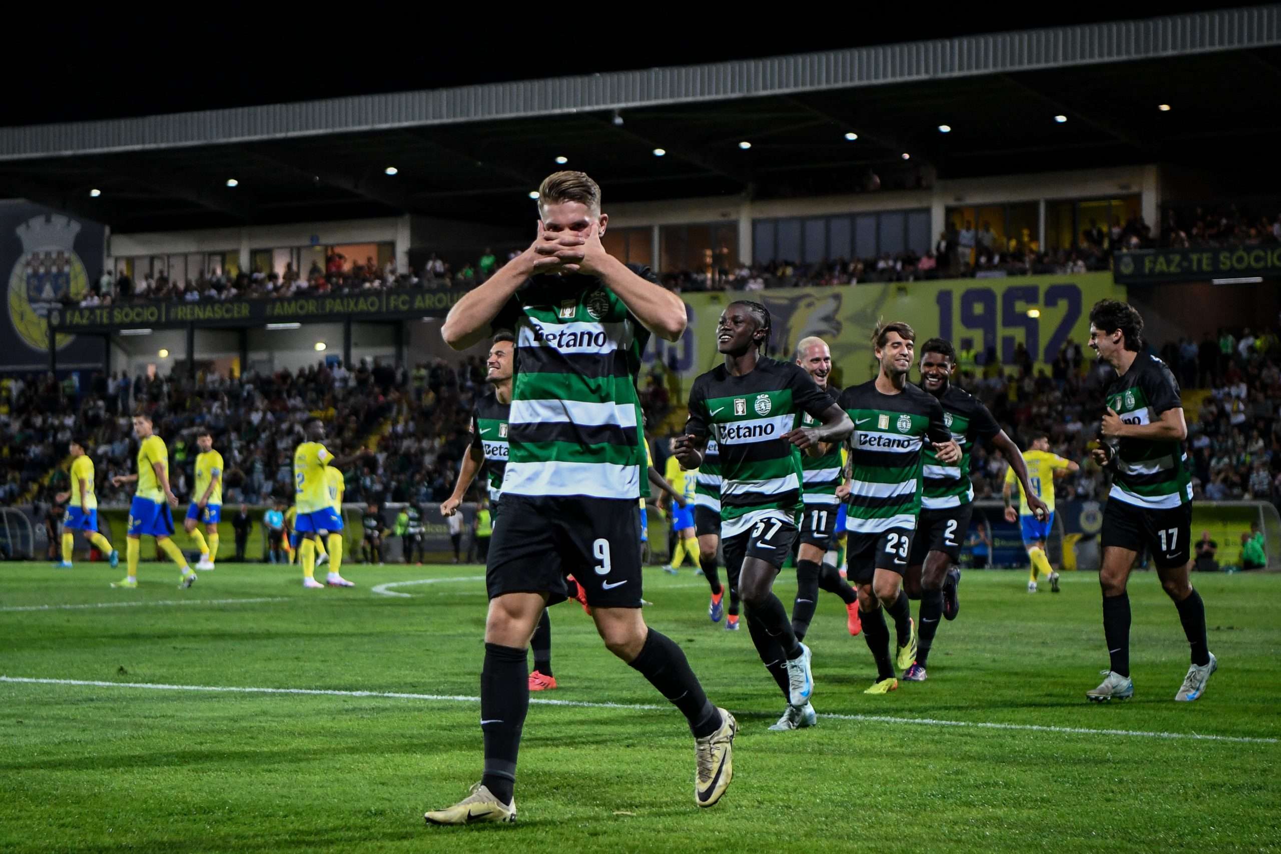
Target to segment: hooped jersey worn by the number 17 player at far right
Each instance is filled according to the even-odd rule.
[[[1107,403],[1126,424],[1152,424],[1167,410],[1181,408],[1179,382],[1166,362],[1139,353],[1125,375],[1112,380]],[[1177,439],[1112,442],[1116,471],[1109,498],[1148,510],[1179,507],[1193,499],[1184,443]]]

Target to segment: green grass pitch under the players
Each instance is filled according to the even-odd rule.
[[[1136,694],[1116,705],[1084,699],[1107,666],[1090,574],[1029,595],[1026,574],[967,572],[929,681],[888,697],[862,694],[871,657],[824,594],[808,643],[813,704],[833,717],[770,732],[783,700],[746,627],[707,620],[690,570],[647,570],[647,621],[738,716],[724,800],[694,805],[684,721],[570,602],[552,609],[561,688],[533,695],[519,822],[448,828],[421,813],[479,778],[483,570],[343,574],[360,586],[223,563],[178,590],[172,566],[145,563],[137,590],[114,590],[123,567],[0,565],[0,850],[1281,848],[1281,576],[1195,579],[1221,666],[1190,704],[1172,702],[1187,647],[1152,572],[1131,579]],[[132,686],[156,684],[343,693]]]

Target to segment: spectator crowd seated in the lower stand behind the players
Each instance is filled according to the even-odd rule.
[[[1036,367],[1020,344],[1012,364],[995,352],[962,364],[958,384],[981,398],[1020,444],[1047,430],[1056,452],[1081,462],[1081,471],[1057,484],[1061,497],[1103,498],[1103,472],[1089,457],[1112,369],[1068,341],[1048,370]],[[1196,343],[1171,342],[1161,350],[1185,389],[1202,389],[1199,411],[1187,411],[1187,453],[1196,499],[1254,498],[1281,506],[1281,337],[1273,330],[1221,330]],[[214,434],[223,453],[224,503],[266,503],[292,497],[292,451],[302,425],[319,416],[328,424],[336,455],[364,444],[375,455],[347,471],[346,501],[432,502],[446,498],[470,442],[469,417],[484,393],[478,357],[457,364],[421,362],[412,369],[363,361],[298,371],[249,373],[227,378],[173,373],[129,378],[95,373],[83,385],[70,376],[10,378],[0,384],[0,502],[47,503],[65,489],[65,472],[51,470],[72,437],[90,443],[99,499],[127,503],[126,489],[110,485],[133,471],[137,442],[129,415],[146,411],[170,448],[173,488],[183,501],[193,483],[195,438]],[[681,408],[684,389],[674,366],[653,362],[642,374],[640,401],[652,435],[673,429],[667,417]],[[661,458],[665,442],[656,442]],[[1006,461],[976,447],[974,484],[979,498],[1000,494]]]

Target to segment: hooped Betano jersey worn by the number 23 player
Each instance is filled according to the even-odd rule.
[[[840,408],[854,423],[849,437],[851,484],[845,530],[860,534],[916,530],[921,512],[921,449],[947,442],[943,406],[908,383],[898,394],[876,380],[847,388]]]

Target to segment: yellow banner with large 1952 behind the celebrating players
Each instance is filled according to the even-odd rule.
[[[1082,348],[1089,343],[1090,307],[1098,300],[1125,296],[1111,273],[684,293],[685,334],[678,342],[656,341],[646,348],[644,360],[675,361],[685,380],[711,370],[724,359],[716,352],[721,311],[735,300],[755,300],[772,316],[770,355],[790,359],[798,341],[817,335],[831,347],[834,379],[842,385],[872,378],[871,334],[881,318],[911,324],[917,347],[940,337],[958,351],[994,348],[1002,362],[1012,364],[1022,343],[1044,366],[1068,341]]]

